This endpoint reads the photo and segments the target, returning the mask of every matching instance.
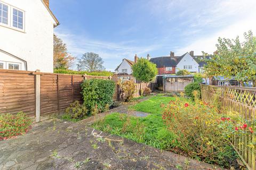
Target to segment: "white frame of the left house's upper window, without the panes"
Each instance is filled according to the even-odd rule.
[[[7,23],[8,24],[0,23],[0,26],[25,33],[25,31],[26,31],[25,30],[25,27],[26,27],[26,25],[25,25],[26,11],[21,10],[20,8],[12,6],[10,4],[4,3],[1,0],[0,0],[0,3],[6,5],[8,7],[8,14],[7,14],[7,17],[8,17],[7,18]],[[17,28],[17,27],[13,27],[13,9],[18,10],[18,11],[22,12],[22,14],[23,14],[23,16],[22,16],[22,19],[23,19],[22,20],[22,29]]]

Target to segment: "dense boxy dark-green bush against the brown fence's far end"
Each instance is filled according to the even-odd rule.
[[[115,82],[113,80],[90,79],[81,84],[84,106],[89,114],[97,108],[99,112],[105,112],[106,106],[113,103],[115,94]]]

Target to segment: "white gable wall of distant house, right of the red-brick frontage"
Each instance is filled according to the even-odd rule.
[[[198,67],[199,64],[194,60],[193,57],[191,57],[191,55],[189,53],[187,53],[182,60],[177,64],[176,67],[176,73],[179,70],[183,70],[184,69],[184,65],[192,65],[192,69],[186,69],[189,72],[197,72],[198,73]]]

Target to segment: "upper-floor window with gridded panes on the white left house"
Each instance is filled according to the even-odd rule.
[[[0,0],[0,25],[25,32],[25,12]]]

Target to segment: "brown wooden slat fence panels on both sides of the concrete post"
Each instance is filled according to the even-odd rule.
[[[0,70],[0,114],[20,111],[35,117],[36,73]],[[61,113],[73,101],[82,100],[81,83],[86,79],[109,79],[87,75],[39,73],[40,114]]]

